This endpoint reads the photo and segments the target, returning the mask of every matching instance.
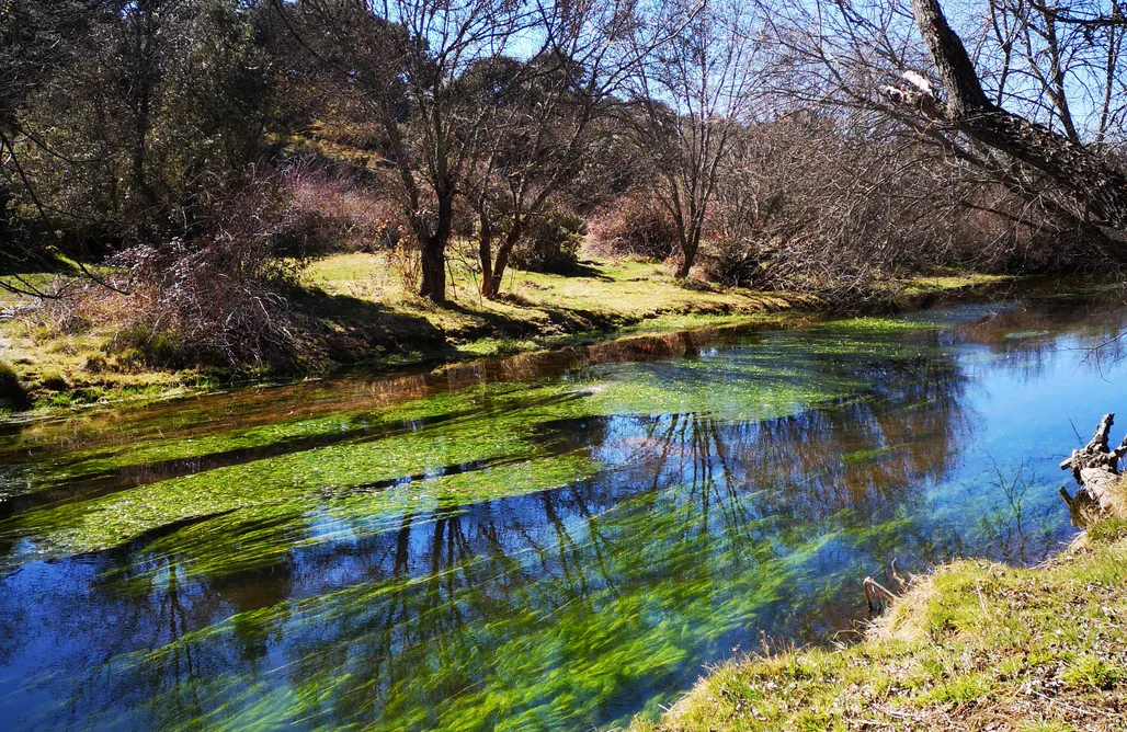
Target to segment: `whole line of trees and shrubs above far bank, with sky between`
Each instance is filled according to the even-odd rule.
[[[2,0],[2,286],[64,251],[266,312],[331,234],[437,303],[470,241],[497,297],[584,226],[726,285],[1122,262],[1118,0],[949,5]]]

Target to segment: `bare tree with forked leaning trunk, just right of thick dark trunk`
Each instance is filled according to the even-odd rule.
[[[513,248],[558,195],[597,167],[598,122],[646,55],[668,42],[678,18],[644,24],[625,0],[538,6],[543,46],[508,63],[515,80],[485,101],[489,124],[465,191],[478,212],[481,293],[496,297]],[[631,42],[631,43],[628,43]],[[503,74],[505,75],[505,74]],[[480,86],[492,90],[497,84]],[[492,241],[498,239],[496,258]]]

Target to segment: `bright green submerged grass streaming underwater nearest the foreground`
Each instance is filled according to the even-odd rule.
[[[240,626],[278,628],[291,639],[311,634],[295,642],[278,669],[285,679],[281,686],[246,688],[232,697],[219,679],[196,681],[190,694],[214,712],[174,725],[178,727],[225,724],[229,709],[240,709],[247,720],[303,720],[314,729],[338,725],[343,709],[345,718],[367,717],[363,726],[388,730],[589,723],[625,688],[655,678],[665,685],[678,682],[686,659],[740,628],[769,623],[770,615],[795,601],[797,591],[829,595],[841,589],[836,581],[820,581],[816,565],[832,542],[849,535],[833,525],[852,517],[840,514],[829,526],[792,527],[792,543],[782,545],[780,521],[770,517],[740,524],[738,534],[725,518],[717,518],[709,532],[685,535],[694,493],[693,486],[678,485],[597,517],[588,536],[574,544],[578,556],[573,571],[578,577],[550,572],[533,578],[541,564],[536,552],[511,556],[506,574],[513,578],[514,591],[504,599],[481,596],[472,577],[479,569],[495,570],[488,559],[478,557],[438,575],[357,584],[238,615],[132,661],[115,662],[133,663],[137,672],[145,672],[170,663],[176,654],[230,636]],[[718,510],[717,516],[753,510],[755,498],[745,493],[720,501],[717,508],[726,503],[728,510]],[[593,561],[600,535],[618,542],[618,551],[605,554],[603,562]],[[864,533],[854,538],[870,541]],[[635,564],[654,568],[662,579],[627,579]],[[459,580],[462,574],[469,577]],[[600,582],[604,589],[582,589]],[[440,605],[428,606],[434,587],[452,589],[443,591]],[[490,617],[496,619],[453,626],[438,619],[456,616],[460,606],[497,601],[505,602],[505,609],[492,608]],[[372,623],[397,604],[420,633],[407,645],[389,645],[382,627]],[[594,616],[601,618],[597,624],[592,623]],[[431,631],[428,618],[436,623]],[[364,627],[373,630],[360,635],[345,632]],[[339,640],[334,640],[338,633]],[[382,655],[353,653],[352,648],[375,649]],[[496,662],[481,667],[482,653]],[[374,669],[382,673],[373,673]],[[396,680],[385,682],[381,676]],[[169,691],[158,706],[174,708],[188,693]],[[433,704],[436,697],[444,698],[441,708]],[[656,700],[648,708],[659,712]]]

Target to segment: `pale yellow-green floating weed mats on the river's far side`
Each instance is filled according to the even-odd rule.
[[[119,546],[205,517],[225,525],[257,523],[303,516],[326,500],[343,499],[357,515],[394,516],[410,501],[434,508],[443,497],[468,505],[556,488],[598,470],[597,457],[567,441],[569,430],[586,419],[693,413],[744,421],[793,414],[861,390],[850,364],[854,357],[870,359],[872,345],[857,339],[826,346],[801,333],[779,333],[722,359],[591,366],[564,381],[483,384],[376,410],[76,453],[64,465],[39,466],[46,474],[38,484],[112,476],[131,466],[158,471],[175,459],[203,462],[179,477],[19,514],[0,523],[0,537],[19,537],[26,551],[9,562],[21,563]],[[810,358],[796,363],[797,348]],[[729,387],[717,390],[717,383]],[[222,462],[239,450],[252,452],[236,464]],[[219,466],[207,470],[216,459]],[[349,498],[357,494],[365,498]]]

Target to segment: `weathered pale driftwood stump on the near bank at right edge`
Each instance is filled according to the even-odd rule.
[[[1124,508],[1122,496],[1113,486],[1119,482],[1119,459],[1127,455],[1127,437],[1115,449],[1108,446],[1115,417],[1115,413],[1104,414],[1088,445],[1072,450],[1072,456],[1061,463],[1061,470],[1071,470],[1080,485],[1075,496],[1061,488],[1076,526],[1084,527],[1097,518],[1120,515]]]

